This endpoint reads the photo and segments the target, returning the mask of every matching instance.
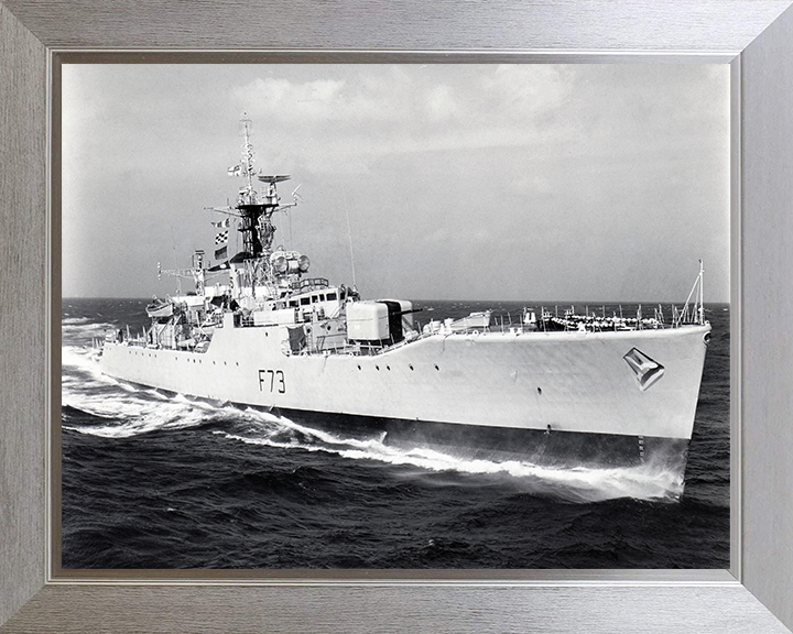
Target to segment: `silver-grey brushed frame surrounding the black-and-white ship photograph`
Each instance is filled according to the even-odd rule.
[[[3,354],[0,444],[0,632],[46,631],[554,631],[785,632],[793,626],[793,478],[790,417],[793,308],[785,247],[793,183],[793,10],[776,0],[719,3],[675,0],[517,2],[499,8],[419,2],[333,14],[308,3],[70,2],[0,3],[0,200],[8,228],[2,262]],[[257,12],[260,12],[257,15]],[[432,13],[432,17],[430,17]],[[254,15],[254,18],[251,18]],[[173,571],[167,579],[53,576],[48,485],[48,254],[59,236],[50,222],[51,118],[47,86],[53,55],[66,50],[262,50],[292,59],[358,51],[360,59],[434,52],[488,59],[535,52],[571,62],[660,63],[696,58],[730,63],[734,87],[734,347],[732,566],[729,571],[367,571],[204,579]],[[445,21],[444,21],[445,19]],[[185,29],[185,24],[195,24]],[[296,51],[295,51],[296,50]],[[302,53],[301,53],[302,52]],[[229,52],[229,55],[232,53]],[[52,170],[57,170],[53,165]],[[740,239],[738,239],[738,236]],[[734,386],[736,383],[734,383]],[[323,578],[324,577],[324,578]]]

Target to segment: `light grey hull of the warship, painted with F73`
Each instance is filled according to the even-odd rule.
[[[709,330],[450,334],[374,356],[301,356],[285,352],[279,327],[227,321],[205,352],[108,342],[101,365],[133,383],[434,445],[503,438],[493,450],[634,460],[655,445],[684,456]]]

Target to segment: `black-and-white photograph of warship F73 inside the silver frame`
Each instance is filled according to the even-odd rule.
[[[61,90],[64,570],[729,567],[729,66]]]

